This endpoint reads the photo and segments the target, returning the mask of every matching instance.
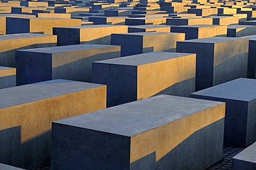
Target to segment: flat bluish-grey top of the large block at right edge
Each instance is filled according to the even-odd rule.
[[[194,95],[250,101],[256,98],[256,80],[240,78],[201,91]]]

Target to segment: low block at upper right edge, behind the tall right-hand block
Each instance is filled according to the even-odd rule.
[[[256,25],[228,25],[227,37],[243,37],[256,34]]]

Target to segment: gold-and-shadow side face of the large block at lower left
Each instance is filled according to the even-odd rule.
[[[49,164],[51,122],[104,108],[106,86],[0,109],[1,163],[25,169]]]

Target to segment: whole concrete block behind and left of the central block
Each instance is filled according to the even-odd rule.
[[[52,79],[91,82],[92,62],[120,56],[120,46],[99,44],[17,50],[17,86]]]

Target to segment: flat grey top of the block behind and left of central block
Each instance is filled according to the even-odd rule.
[[[101,45],[101,44],[79,44],[79,45],[70,45],[70,46],[23,49],[23,50],[17,50],[17,51],[54,54],[54,53],[65,53],[65,52],[74,52],[79,50],[89,50],[89,49],[109,48],[109,47],[117,47],[117,46]]]

